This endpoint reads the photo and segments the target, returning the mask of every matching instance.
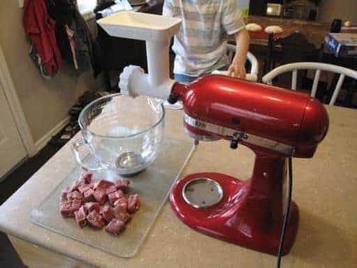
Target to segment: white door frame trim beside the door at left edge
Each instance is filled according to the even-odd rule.
[[[11,113],[15,119],[17,130],[20,133],[21,140],[27,151],[29,157],[36,154],[35,143],[33,142],[33,137],[29,125],[27,124],[26,118],[24,117],[24,112],[17,97],[15,86],[13,84],[13,79],[11,78],[10,71],[8,70],[8,65],[6,64],[6,59],[3,54],[3,50],[0,46],[0,83],[5,91],[5,96],[10,106]]]

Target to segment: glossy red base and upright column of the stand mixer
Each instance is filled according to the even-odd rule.
[[[255,172],[248,181],[211,172],[183,177],[176,182],[170,193],[172,209],[181,221],[198,232],[276,255],[283,220],[282,182],[286,170],[284,158],[275,159],[273,166],[261,168],[263,165],[260,164],[266,164],[266,161],[272,159],[256,159]],[[201,177],[213,179],[223,189],[222,200],[213,207],[195,208],[183,199],[185,184]],[[298,207],[295,202],[291,202],[283,254],[289,253],[294,244],[298,218]]]

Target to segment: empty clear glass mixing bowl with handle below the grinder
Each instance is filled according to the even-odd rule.
[[[153,98],[121,94],[98,98],[79,114],[82,137],[73,142],[75,160],[84,170],[136,174],[155,161],[164,117],[162,102]],[[88,152],[90,158],[82,157]]]

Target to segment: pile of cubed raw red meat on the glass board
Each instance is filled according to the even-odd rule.
[[[132,217],[130,213],[139,209],[139,195],[126,198],[124,193],[129,190],[128,179],[119,179],[115,183],[105,179],[94,183],[92,179],[91,172],[83,172],[71,187],[63,189],[60,196],[61,216],[74,217],[79,228],[88,224],[96,228],[105,227],[112,234],[120,234]],[[107,200],[109,203],[106,203]]]

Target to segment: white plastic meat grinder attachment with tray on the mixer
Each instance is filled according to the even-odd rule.
[[[128,66],[120,75],[122,94],[167,100],[174,80],[169,78],[169,43],[179,31],[181,19],[134,11],[121,11],[98,20],[109,36],[146,41],[148,74],[139,66]]]

